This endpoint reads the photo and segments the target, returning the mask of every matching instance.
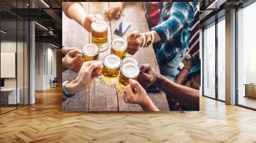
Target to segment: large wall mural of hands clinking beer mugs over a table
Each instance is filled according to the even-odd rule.
[[[64,111],[199,110],[199,3],[63,2],[62,10]]]

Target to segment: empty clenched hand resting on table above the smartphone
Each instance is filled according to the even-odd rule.
[[[113,17],[115,17],[115,19],[119,19],[122,13],[122,10],[123,10],[123,3],[117,2],[111,8],[108,8],[108,10],[105,11],[105,15],[106,17],[108,17],[109,20],[112,20]]]

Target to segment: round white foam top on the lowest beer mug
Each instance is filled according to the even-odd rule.
[[[140,73],[140,69],[136,64],[127,63],[122,67],[122,73],[127,77],[137,77]]]

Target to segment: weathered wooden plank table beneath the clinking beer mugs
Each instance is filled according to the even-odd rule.
[[[100,61],[110,53],[111,41],[117,36],[113,34],[115,28],[120,24],[122,20],[131,23],[131,27],[127,30],[123,38],[132,31],[148,31],[147,19],[144,14],[143,6],[141,3],[129,4],[122,12],[120,19],[109,21],[102,13],[109,8],[113,3],[110,2],[90,2],[83,3],[83,8],[86,13],[101,14],[104,20],[108,23],[108,43],[109,49],[106,52],[100,53]],[[136,13],[134,12],[136,11]],[[79,26],[74,20],[68,19],[64,13],[63,19],[63,39],[62,44],[64,47],[77,47],[82,49],[83,45],[90,43],[91,35],[83,27]],[[147,49],[140,49],[134,55],[138,59],[140,64],[148,63],[159,72],[159,66],[156,61],[156,55],[152,47]],[[70,70],[63,72],[62,78],[65,80],[74,80],[77,73]],[[163,92],[160,93],[148,93],[148,96],[155,103],[156,107],[161,111],[169,111],[168,102]],[[124,99],[121,95],[115,92],[114,87],[103,86],[99,79],[94,79],[92,86],[85,91],[77,93],[76,96],[68,98],[66,102],[62,104],[63,110],[79,110],[79,111],[141,111],[140,105],[124,103]]]

